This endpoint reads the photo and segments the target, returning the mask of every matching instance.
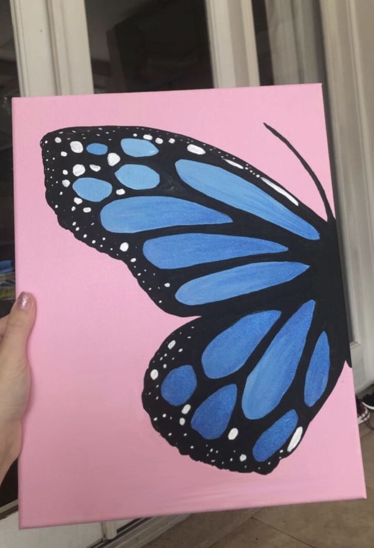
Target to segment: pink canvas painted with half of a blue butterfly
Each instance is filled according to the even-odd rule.
[[[320,85],[16,99],[14,135],[21,526],[365,496]]]

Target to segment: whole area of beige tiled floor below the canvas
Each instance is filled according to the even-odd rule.
[[[146,548],[373,548],[374,432],[360,435],[367,500],[195,514]]]

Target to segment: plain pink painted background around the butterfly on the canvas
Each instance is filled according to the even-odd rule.
[[[45,133],[145,125],[231,152],[323,214],[301,164],[263,125],[296,145],[331,200],[320,85],[22,98],[13,106],[17,290],[38,303],[21,527],[364,497],[347,366],[301,446],[268,476],[197,463],[158,436],[141,405],[143,375],[186,319],[158,310],[121,261],[61,229],[44,198]]]

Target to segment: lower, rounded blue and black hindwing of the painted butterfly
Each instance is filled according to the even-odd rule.
[[[175,330],[145,374],[143,405],[154,429],[180,453],[220,469],[274,470],[341,373],[320,312],[307,301]]]

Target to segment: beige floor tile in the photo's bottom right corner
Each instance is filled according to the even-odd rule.
[[[260,510],[256,520],[315,548],[373,548],[374,489],[367,500],[279,506]]]

